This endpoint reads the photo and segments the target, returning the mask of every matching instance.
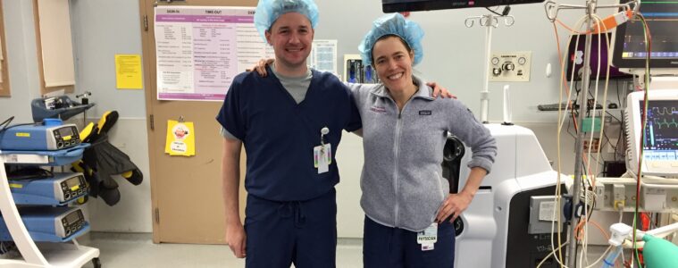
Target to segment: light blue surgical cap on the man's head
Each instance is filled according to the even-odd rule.
[[[259,0],[259,4],[256,4],[255,27],[264,42],[266,30],[271,29],[273,22],[284,13],[300,13],[306,16],[314,29],[318,24],[318,6],[313,0]]]

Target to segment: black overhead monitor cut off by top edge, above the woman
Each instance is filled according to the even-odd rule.
[[[384,13],[541,3],[545,0],[381,0]]]

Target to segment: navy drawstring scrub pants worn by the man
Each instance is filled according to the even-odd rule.
[[[245,207],[247,268],[336,266],[336,191],[306,201],[276,202],[252,195]]]

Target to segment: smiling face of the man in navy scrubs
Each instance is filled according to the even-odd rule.
[[[311,21],[300,13],[280,15],[271,30],[266,31],[266,40],[273,46],[276,62],[283,68],[305,66],[313,39]]]

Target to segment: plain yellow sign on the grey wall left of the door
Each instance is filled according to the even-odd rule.
[[[115,54],[115,88],[144,88],[141,76],[141,55]]]

